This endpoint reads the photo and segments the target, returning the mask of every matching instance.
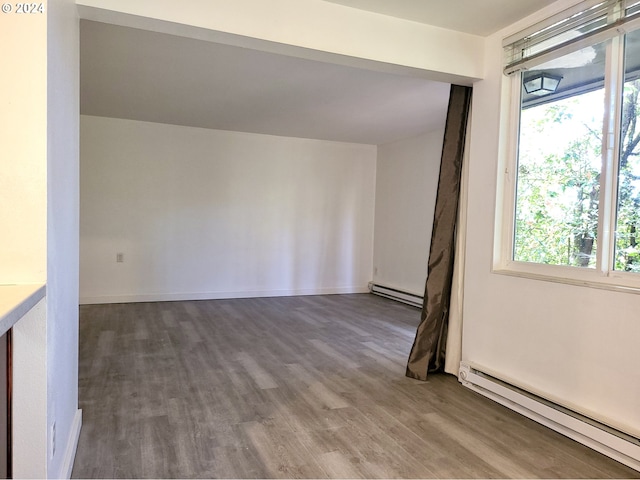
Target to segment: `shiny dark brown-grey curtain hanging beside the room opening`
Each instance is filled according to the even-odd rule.
[[[471,87],[451,85],[449,94],[424,303],[407,363],[407,377],[418,380],[426,380],[427,373],[444,369],[460,177],[471,91]]]

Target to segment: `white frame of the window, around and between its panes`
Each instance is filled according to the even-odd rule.
[[[496,228],[494,241],[494,273],[579,285],[592,288],[640,294],[640,274],[613,269],[617,209],[618,154],[624,80],[624,34],[640,29],[640,22],[631,22],[619,35],[608,40],[605,66],[605,116],[603,132],[603,162],[600,180],[598,241],[596,267],[576,267],[521,262],[513,259],[515,206],[520,136],[522,74],[503,75],[502,100],[508,105],[505,150],[498,162]],[[594,42],[595,43],[595,42]],[[504,103],[503,103],[504,104]],[[504,113],[504,111],[503,111]],[[505,124],[503,124],[505,125]]]

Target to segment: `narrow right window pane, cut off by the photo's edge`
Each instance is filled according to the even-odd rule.
[[[618,159],[618,208],[614,268],[640,272],[638,228],[640,220],[640,32],[625,39],[625,78]]]

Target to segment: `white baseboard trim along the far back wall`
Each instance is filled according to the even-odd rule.
[[[367,286],[303,288],[294,290],[247,290],[237,292],[149,293],[130,295],[93,295],[80,297],[80,305],[102,303],[175,302],[183,300],[223,300],[229,298],[295,297],[369,293]]]

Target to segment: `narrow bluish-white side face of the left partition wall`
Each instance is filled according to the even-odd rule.
[[[46,429],[48,475],[61,478],[71,474],[81,425],[78,410],[79,20],[73,0],[49,0],[47,11]]]

